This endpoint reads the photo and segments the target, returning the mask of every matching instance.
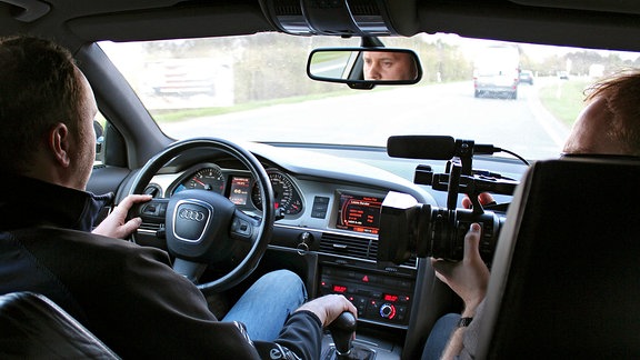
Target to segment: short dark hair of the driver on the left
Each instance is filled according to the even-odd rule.
[[[0,38],[0,163],[22,173],[53,126],[78,132],[83,84],[71,53],[40,38]]]

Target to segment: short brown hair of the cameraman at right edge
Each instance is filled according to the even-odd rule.
[[[586,101],[604,99],[611,112],[607,136],[629,154],[640,156],[640,70],[628,69],[600,80],[586,90]]]

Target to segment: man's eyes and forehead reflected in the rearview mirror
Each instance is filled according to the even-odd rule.
[[[364,51],[364,80],[416,80],[418,69],[407,52]]]

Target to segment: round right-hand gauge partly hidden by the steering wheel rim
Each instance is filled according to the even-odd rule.
[[[269,172],[269,180],[273,189],[273,198],[276,200],[276,209],[282,209],[284,214],[297,214],[302,211],[302,199],[300,193],[296,190],[296,186],[291,179],[286,174],[278,171]],[[251,201],[258,209],[262,208],[262,197],[260,196],[260,188],[253,184],[251,190]]]

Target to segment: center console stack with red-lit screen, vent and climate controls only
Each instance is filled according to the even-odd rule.
[[[336,233],[320,240],[319,293],[339,293],[358,309],[358,319],[406,329],[409,323],[416,260],[404,267],[377,264],[383,194],[337,190],[330,223]],[[342,231],[340,231],[342,230]]]

